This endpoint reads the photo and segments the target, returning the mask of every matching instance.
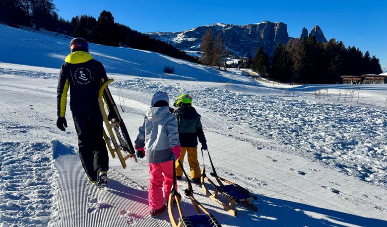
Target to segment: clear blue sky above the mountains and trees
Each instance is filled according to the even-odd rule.
[[[306,3],[308,2],[308,3]],[[88,14],[98,18],[102,10],[115,21],[140,32],[182,31],[217,22],[258,23],[263,20],[287,24],[291,37],[299,37],[319,25],[327,39],[376,55],[387,67],[386,0],[54,0],[65,19]]]

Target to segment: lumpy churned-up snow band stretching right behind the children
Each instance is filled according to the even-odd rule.
[[[55,74],[22,70],[0,69],[1,73],[57,78]],[[168,92],[171,98],[190,93],[194,96],[195,105],[251,129],[248,133],[245,130],[238,132],[238,126],[230,125],[227,129],[216,130],[215,122],[214,127],[207,129],[209,131],[250,141],[258,149],[265,145],[251,138],[268,138],[288,145],[285,152],[318,160],[366,182],[387,186],[386,110],[296,100],[286,96],[249,95],[227,90],[227,87],[186,89],[182,88],[182,83],[167,84],[147,78],[116,80],[114,84],[120,88],[146,92],[148,99],[158,90]],[[206,121],[203,118],[204,126]],[[300,171],[299,174],[305,172]]]

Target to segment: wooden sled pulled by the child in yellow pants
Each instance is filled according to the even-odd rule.
[[[226,180],[216,174],[215,167],[212,163],[211,156],[208,152],[208,157],[211,162],[212,166],[212,173],[210,175],[212,177],[215,177],[216,181],[219,185],[216,185],[205,173],[205,167],[204,167],[204,155],[203,150],[201,150],[201,155],[203,156],[203,168],[201,169],[201,187],[203,188],[205,194],[215,203],[219,204],[223,209],[233,216],[237,216],[237,211],[234,209],[234,205],[237,204],[244,204],[248,208],[252,209],[253,211],[258,211],[258,208],[255,207],[252,203],[253,199],[257,199],[257,196],[254,196],[250,191],[245,189],[242,186],[239,186],[238,184],[235,184],[229,180]],[[213,187],[213,194],[207,189],[207,187],[204,184],[204,180],[207,180],[211,186]],[[226,184],[224,184],[226,183]],[[220,201],[217,197],[219,195],[223,195],[229,200],[228,204],[223,203]]]

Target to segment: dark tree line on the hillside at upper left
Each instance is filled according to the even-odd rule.
[[[111,12],[103,10],[98,19],[80,15],[71,21],[58,16],[53,0],[0,0],[0,21],[10,25],[44,28],[88,42],[154,51],[174,58],[197,62],[172,44],[151,38],[128,26],[116,23]]]

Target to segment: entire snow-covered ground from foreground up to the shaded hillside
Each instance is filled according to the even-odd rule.
[[[169,226],[167,215],[147,215],[144,160],[127,160],[123,169],[110,159],[107,190],[97,190],[80,167],[69,111],[67,131],[56,128],[57,75],[69,38],[0,25],[0,40],[1,226]],[[344,101],[334,90],[355,88],[331,85],[328,98],[317,97],[326,85],[273,88],[237,70],[90,48],[116,79],[117,102],[115,87],[123,92],[133,139],[155,91],[194,97],[218,173],[258,196],[258,212],[237,206],[232,217],[194,186],[195,198],[222,226],[387,226],[387,110],[376,99],[387,93],[385,85],[361,86],[359,100]],[[164,61],[175,64],[177,75],[163,74]],[[205,164],[209,169],[206,156]],[[179,181],[179,190],[186,187]],[[193,213],[188,198],[183,207]]]

